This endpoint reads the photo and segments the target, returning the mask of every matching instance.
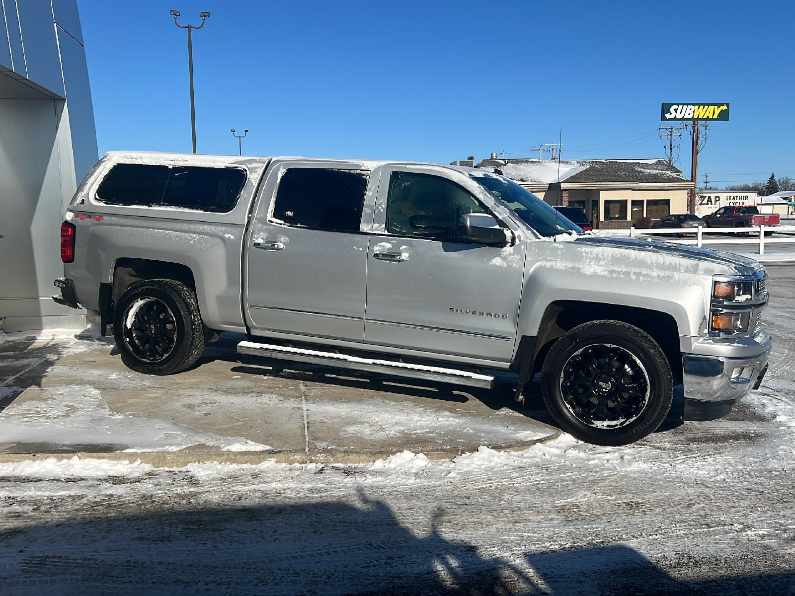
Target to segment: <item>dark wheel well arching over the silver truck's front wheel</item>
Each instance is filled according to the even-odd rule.
[[[682,354],[677,322],[673,316],[667,312],[647,308],[577,300],[558,300],[546,308],[541,325],[538,327],[533,370],[535,372],[541,370],[549,348],[561,335],[582,323],[603,319],[630,323],[651,335],[668,358],[675,381],[681,383]]]

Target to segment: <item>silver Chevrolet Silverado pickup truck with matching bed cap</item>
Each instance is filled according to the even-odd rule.
[[[541,373],[564,430],[619,445],[756,389],[770,335],[758,262],[584,233],[498,173],[397,161],[107,153],[61,227],[60,304],[122,361],[241,354],[491,387]],[[489,371],[492,371],[491,373]],[[498,371],[495,373],[494,371]]]

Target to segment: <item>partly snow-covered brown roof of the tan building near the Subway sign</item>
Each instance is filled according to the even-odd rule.
[[[531,160],[487,159],[478,168],[498,168],[525,184],[603,184],[681,182],[682,172],[663,159]]]

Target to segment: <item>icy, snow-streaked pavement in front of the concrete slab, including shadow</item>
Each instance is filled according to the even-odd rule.
[[[0,594],[795,594],[795,272],[770,276],[762,389],[627,447],[0,464]]]

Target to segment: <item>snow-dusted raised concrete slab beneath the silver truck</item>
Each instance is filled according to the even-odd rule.
[[[514,404],[510,375],[485,391],[316,366],[281,370],[285,362],[238,362],[239,339],[223,335],[199,366],[170,377],[126,369],[107,339],[6,340],[0,461],[364,462],[403,450],[448,459],[558,433],[545,412]]]

